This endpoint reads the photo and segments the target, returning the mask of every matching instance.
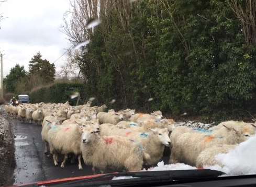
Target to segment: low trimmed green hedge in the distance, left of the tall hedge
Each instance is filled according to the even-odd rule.
[[[31,91],[29,97],[32,103],[69,101],[71,105],[75,105],[76,99],[70,98],[73,92],[80,92],[81,101],[84,100],[85,88],[80,83],[55,83],[51,86],[44,86]]]

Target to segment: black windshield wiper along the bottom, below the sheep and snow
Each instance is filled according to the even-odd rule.
[[[202,179],[212,179],[225,174],[216,170],[172,170],[172,171],[139,171],[139,172],[118,172],[108,173],[91,179],[83,179],[68,183],[62,183],[52,186],[129,186],[142,183],[159,183],[159,182],[187,182]],[[112,180],[114,177],[134,177],[131,179]]]

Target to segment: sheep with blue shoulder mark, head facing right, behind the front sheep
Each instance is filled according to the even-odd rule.
[[[136,132],[136,127],[124,129],[113,124],[102,124],[100,127],[101,136],[118,135],[139,143],[150,155],[150,159],[145,161],[149,166],[158,163],[163,156],[164,147],[171,145],[167,128],[149,128],[150,132]]]

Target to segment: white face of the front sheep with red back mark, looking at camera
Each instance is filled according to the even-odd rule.
[[[84,126],[82,128],[81,141],[83,144],[93,142],[93,140],[99,136],[99,130],[97,127]]]

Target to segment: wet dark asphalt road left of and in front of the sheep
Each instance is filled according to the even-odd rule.
[[[77,163],[66,162],[65,168],[54,167],[52,157],[43,154],[41,126],[9,120],[15,137],[14,184],[61,179],[93,174],[92,168],[83,166],[79,170]],[[59,159],[61,160],[61,159]]]

